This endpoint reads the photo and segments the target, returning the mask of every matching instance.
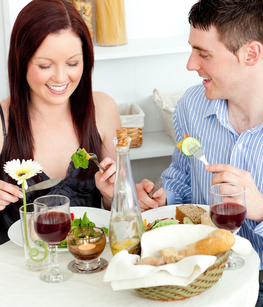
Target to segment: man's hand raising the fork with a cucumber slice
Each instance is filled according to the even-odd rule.
[[[227,182],[239,183],[245,187],[247,218],[258,223],[263,221],[263,194],[256,186],[251,174],[229,164],[212,164],[205,167],[209,172],[217,173],[211,185]]]

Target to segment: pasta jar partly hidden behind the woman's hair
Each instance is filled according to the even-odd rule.
[[[94,26],[93,26],[93,12],[92,0],[70,0],[70,2],[77,8],[79,14],[86,23],[92,41],[94,40]]]

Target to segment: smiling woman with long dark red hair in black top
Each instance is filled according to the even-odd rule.
[[[116,103],[92,92],[93,64],[88,28],[70,2],[33,0],[20,12],[10,39],[10,97],[0,103],[0,244],[8,240],[7,230],[19,219],[22,205],[20,188],[2,170],[12,159],[34,159],[42,165],[43,172],[27,180],[29,186],[62,178],[53,188],[26,193],[27,203],[62,194],[73,206],[101,207],[103,199],[110,208],[112,139],[121,121]],[[106,172],[92,161],[88,169],[75,169],[71,155],[78,148],[96,153]]]

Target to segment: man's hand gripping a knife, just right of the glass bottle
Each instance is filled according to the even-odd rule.
[[[166,193],[162,188],[155,192],[152,199],[148,196],[148,193],[150,193],[154,187],[152,181],[143,179],[140,183],[135,184],[135,187],[142,212],[166,204]]]

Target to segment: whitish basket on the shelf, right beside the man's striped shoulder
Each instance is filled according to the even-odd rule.
[[[161,111],[162,120],[166,129],[166,133],[176,142],[173,114],[178,100],[183,96],[184,92],[167,92],[160,94],[158,89],[154,89],[153,100]]]

